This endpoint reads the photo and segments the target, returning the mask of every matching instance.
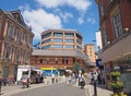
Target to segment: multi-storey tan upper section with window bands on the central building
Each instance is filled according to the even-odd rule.
[[[83,36],[75,29],[48,29],[41,33],[41,49],[83,51]]]

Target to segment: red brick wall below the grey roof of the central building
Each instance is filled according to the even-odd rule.
[[[43,63],[39,63],[39,59],[43,59]],[[55,63],[55,57],[48,57],[49,58],[49,63],[46,63],[46,56],[37,56],[37,63],[35,63],[35,56],[31,57],[31,65],[36,65],[36,67],[55,67],[55,68],[69,68],[72,69],[73,67],[73,58],[69,57],[68,58],[68,63],[62,63],[62,57],[57,57],[58,58],[58,63]],[[80,63],[80,65],[83,68],[84,62],[81,59],[76,59],[76,61]]]

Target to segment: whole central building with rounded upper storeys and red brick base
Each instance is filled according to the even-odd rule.
[[[82,36],[75,29],[48,29],[41,33],[41,47],[34,49],[31,64],[41,70],[85,69],[88,57],[82,51]],[[50,74],[50,73],[49,73]]]

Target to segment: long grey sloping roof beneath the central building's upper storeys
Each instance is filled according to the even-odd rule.
[[[81,59],[88,59],[87,55],[76,50],[43,50],[34,49],[32,56],[61,56],[61,57],[75,57]]]

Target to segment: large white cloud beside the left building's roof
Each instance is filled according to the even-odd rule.
[[[32,26],[35,39],[39,39],[41,32],[45,29],[62,27],[61,19],[58,15],[47,13],[43,9],[23,10],[22,14],[26,24]]]

